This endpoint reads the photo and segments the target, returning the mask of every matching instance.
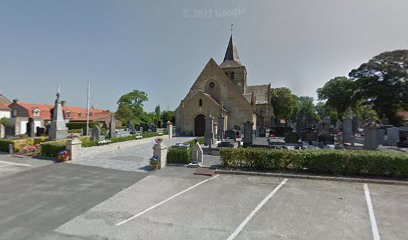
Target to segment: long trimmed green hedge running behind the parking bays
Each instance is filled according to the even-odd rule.
[[[309,172],[331,175],[408,177],[408,154],[380,151],[221,149],[227,168]]]

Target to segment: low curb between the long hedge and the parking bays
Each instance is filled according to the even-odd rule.
[[[371,178],[329,177],[329,176],[314,176],[314,175],[290,174],[290,173],[264,173],[264,172],[219,170],[219,169],[217,169],[215,171],[215,174],[232,174],[232,175],[248,175],[248,176],[263,176],[263,177],[280,177],[280,178],[298,178],[298,179],[310,179],[310,180],[326,180],[326,181],[358,182],[358,183],[378,183],[378,184],[405,185],[405,186],[408,186],[408,181],[371,179]]]

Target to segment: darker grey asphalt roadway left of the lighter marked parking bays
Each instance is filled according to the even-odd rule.
[[[0,155],[0,239],[39,239],[146,176]]]

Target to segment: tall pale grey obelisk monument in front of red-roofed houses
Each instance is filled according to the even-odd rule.
[[[64,139],[68,136],[68,128],[62,113],[62,104],[60,100],[60,91],[58,89],[55,99],[52,122],[48,131],[50,140]]]

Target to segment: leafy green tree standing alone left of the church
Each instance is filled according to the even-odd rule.
[[[117,102],[116,117],[124,124],[128,121],[132,121],[136,125],[147,123],[149,118],[143,111],[143,102],[147,100],[147,94],[139,90],[122,95]]]

